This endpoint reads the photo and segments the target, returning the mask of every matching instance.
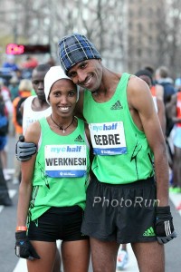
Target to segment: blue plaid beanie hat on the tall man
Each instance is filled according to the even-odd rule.
[[[62,38],[58,44],[62,69],[67,73],[77,63],[89,59],[101,59],[100,53],[88,38],[81,34],[71,34]]]

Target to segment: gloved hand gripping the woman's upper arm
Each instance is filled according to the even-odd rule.
[[[36,151],[37,147],[35,143],[25,142],[23,135],[19,137],[19,141],[17,141],[15,145],[15,157],[17,160],[30,160]]]

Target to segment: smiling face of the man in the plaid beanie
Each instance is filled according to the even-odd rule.
[[[86,60],[77,63],[67,74],[73,83],[83,89],[95,92],[99,89],[102,78],[102,66],[100,60]]]

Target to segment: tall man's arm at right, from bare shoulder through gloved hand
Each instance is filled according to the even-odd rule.
[[[135,120],[139,129],[142,128],[145,132],[149,146],[154,152],[158,199],[155,232],[158,243],[166,244],[176,238],[176,231],[170,207],[168,206],[168,161],[164,135],[146,83],[140,79],[131,78],[128,88],[128,100],[133,120]]]

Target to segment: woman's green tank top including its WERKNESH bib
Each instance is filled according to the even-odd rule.
[[[79,205],[85,209],[90,170],[90,147],[84,122],[70,135],[53,132],[40,120],[41,139],[33,171],[33,193],[28,221],[38,219],[51,207]]]

